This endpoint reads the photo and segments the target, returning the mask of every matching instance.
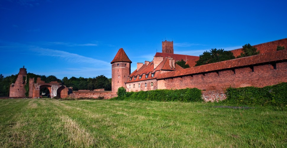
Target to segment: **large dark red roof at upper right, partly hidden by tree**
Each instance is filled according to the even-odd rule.
[[[271,41],[271,42],[267,42],[267,43],[254,45],[253,47],[257,48],[257,51],[259,51],[260,54],[263,54],[263,53],[267,53],[267,52],[274,52],[274,51],[276,51],[277,46],[284,46],[285,49],[286,49],[287,48],[287,38],[283,38],[283,39],[276,40],[276,41]],[[231,50],[231,52],[233,53],[233,55],[235,57],[237,57],[237,56],[239,56],[241,54],[242,48]]]

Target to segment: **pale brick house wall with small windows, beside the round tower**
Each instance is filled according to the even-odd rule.
[[[145,85],[146,83],[146,85]],[[140,84],[140,87],[139,85]],[[135,87],[133,87],[135,85]],[[151,80],[145,80],[145,81],[138,81],[133,83],[126,83],[126,90],[128,92],[138,92],[138,91],[150,91],[150,90],[156,90],[157,89],[157,80],[151,79]]]

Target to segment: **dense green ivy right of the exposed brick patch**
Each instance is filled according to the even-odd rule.
[[[228,88],[227,99],[222,103],[236,105],[287,105],[287,83],[283,82],[273,86]]]

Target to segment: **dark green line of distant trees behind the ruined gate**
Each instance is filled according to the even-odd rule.
[[[2,74],[0,74],[0,96],[9,96],[9,89],[10,85],[12,83],[15,83],[16,79],[18,77],[17,75],[10,75],[7,77],[4,77]],[[62,80],[58,79],[54,75],[36,75],[33,73],[27,73],[27,83],[29,82],[29,78],[35,78],[34,81],[36,83],[37,78],[41,78],[42,81],[45,81],[46,83],[50,83],[51,81],[58,81],[62,83],[63,85],[67,87],[73,87],[74,91],[78,90],[93,90],[93,89],[105,89],[105,91],[111,91],[112,90],[112,78],[107,78],[104,75],[99,75],[94,78],[83,78],[83,77],[71,77],[68,79],[67,77],[64,77]],[[47,89],[41,90],[41,91],[47,91]]]

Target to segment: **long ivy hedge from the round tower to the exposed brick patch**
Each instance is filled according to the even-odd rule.
[[[201,90],[193,89],[157,89],[151,91],[125,92],[123,87],[118,89],[117,100],[149,100],[149,101],[181,101],[181,102],[203,102]]]

